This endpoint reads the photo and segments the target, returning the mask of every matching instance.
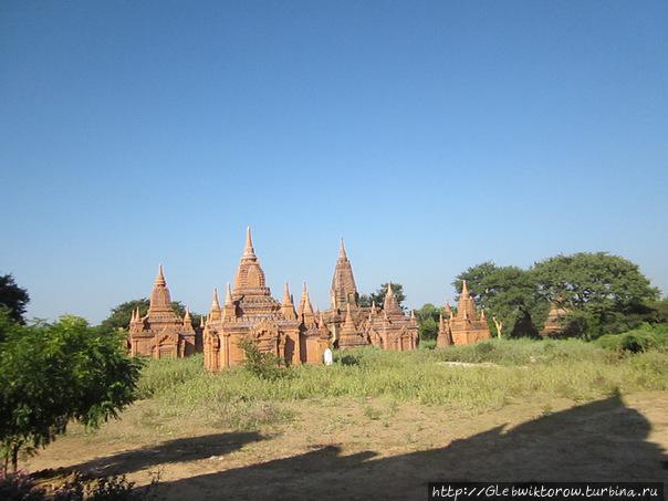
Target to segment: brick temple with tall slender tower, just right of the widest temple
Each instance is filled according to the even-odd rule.
[[[331,306],[323,317],[340,349],[374,345],[383,349],[414,349],[418,344],[415,315],[406,316],[392,291],[387,288],[383,307],[359,305],[353,267],[346,254],[343,239],[334,267]]]

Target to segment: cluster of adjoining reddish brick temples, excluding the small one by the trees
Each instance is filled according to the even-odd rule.
[[[374,345],[382,349],[405,351],[418,345],[415,314],[407,316],[404,313],[392,284],[382,307],[359,305],[343,240],[332,278],[331,307],[325,312],[314,310],[305,283],[296,309],[288,284],[282,302],[271,295],[255,255],[250,228],[233,283],[233,288],[227,284],[222,305],[213,289],[211,307],[200,324],[203,343],[196,343],[190,313],[186,311],[186,316],[180,319],[171,309],[160,267],[148,314],[140,317],[138,311],[133,313],[129,325],[132,355],[181,357],[195,353],[203,344],[206,369],[219,372],[243,363],[243,341],[254,343],[262,353],[278,356],[285,365],[321,364],[328,347],[346,349]]]

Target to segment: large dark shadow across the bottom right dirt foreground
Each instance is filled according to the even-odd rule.
[[[435,427],[447,429],[449,422]],[[164,482],[167,499],[422,500],[430,481],[664,481],[649,421],[618,395],[504,426],[439,449],[343,456],[336,446],[244,468]]]

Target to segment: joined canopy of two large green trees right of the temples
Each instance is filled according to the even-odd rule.
[[[587,340],[668,316],[666,301],[657,301],[658,290],[637,264],[606,252],[556,255],[529,270],[484,262],[457,276],[459,293],[463,280],[476,303],[491,313],[490,328],[495,328],[492,316],[503,324],[503,336],[535,337],[552,302],[568,311],[567,331]]]

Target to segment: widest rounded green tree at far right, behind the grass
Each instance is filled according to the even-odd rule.
[[[623,332],[659,299],[638,265],[607,252],[578,252],[537,262],[532,269],[537,294],[560,299],[587,338]]]

